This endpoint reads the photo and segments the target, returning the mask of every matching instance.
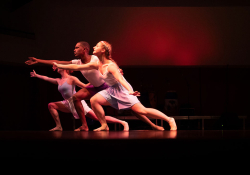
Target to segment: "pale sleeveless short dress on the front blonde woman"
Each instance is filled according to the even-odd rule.
[[[103,73],[103,79],[106,82],[106,84],[109,86],[109,88],[102,90],[98,93],[102,95],[111,104],[113,108],[118,109],[118,110],[127,109],[127,108],[132,107],[134,104],[139,103],[140,101],[138,100],[138,98],[134,95],[129,95],[128,90],[125,87],[123,87],[121,83],[119,83],[111,73],[107,71],[108,66],[110,64],[114,64],[114,63],[103,65],[103,66],[107,65]],[[125,78],[124,80],[126,81]],[[131,85],[130,87],[132,88]]]

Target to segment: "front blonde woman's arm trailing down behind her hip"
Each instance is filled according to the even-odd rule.
[[[109,65],[108,71],[112,73],[112,75],[115,77],[115,79],[122,84],[123,87],[125,87],[130,95],[134,96],[140,96],[140,92],[133,91],[133,89],[129,86],[129,84],[124,80],[121,73],[118,71],[117,67],[115,65]]]

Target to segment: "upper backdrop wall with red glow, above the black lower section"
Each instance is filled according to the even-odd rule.
[[[250,65],[250,6],[242,1],[26,2],[0,7],[4,62],[23,63],[28,56],[70,60],[76,42],[88,41],[92,53],[107,40],[124,66]]]

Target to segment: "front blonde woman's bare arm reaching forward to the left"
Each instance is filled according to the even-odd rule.
[[[73,71],[98,69],[98,63],[97,62],[90,62],[90,63],[82,64],[82,65],[77,65],[77,64],[64,65],[64,64],[58,64],[58,63],[55,62],[54,66],[56,68],[69,69],[69,70],[73,70]]]

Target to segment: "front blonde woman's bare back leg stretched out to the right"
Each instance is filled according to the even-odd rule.
[[[140,115],[146,115],[155,119],[165,120],[170,125],[170,130],[177,130],[174,118],[168,117],[156,109],[145,108],[141,103],[136,103],[131,107],[131,109]]]

